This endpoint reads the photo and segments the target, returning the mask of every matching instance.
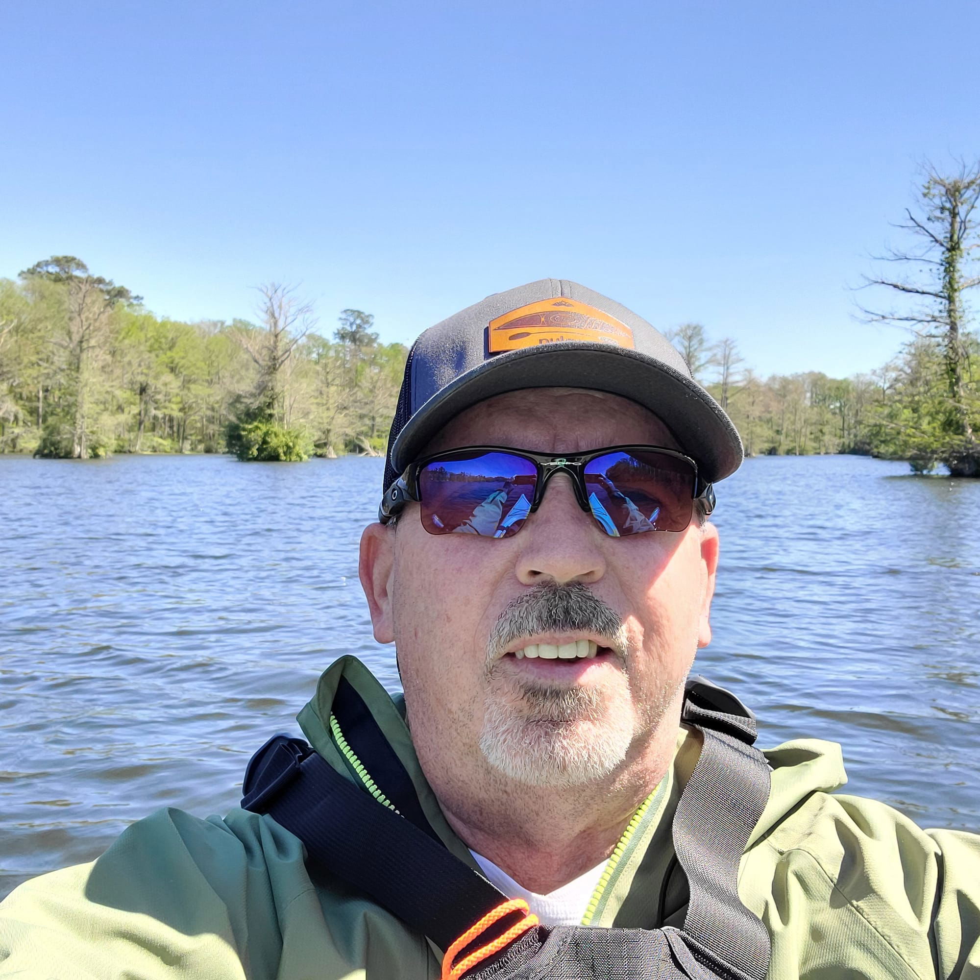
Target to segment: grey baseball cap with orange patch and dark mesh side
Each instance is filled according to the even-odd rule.
[[[577,282],[539,279],[494,293],[418,337],[391,425],[385,491],[469,406],[554,387],[610,392],[649,409],[712,483],[742,463],[731,419],[659,330]]]

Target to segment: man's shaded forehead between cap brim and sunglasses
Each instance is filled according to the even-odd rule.
[[[619,395],[585,388],[525,388],[470,406],[425,452],[488,445],[571,453],[628,443],[682,448],[659,417]]]

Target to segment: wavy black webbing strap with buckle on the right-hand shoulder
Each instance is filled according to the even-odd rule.
[[[753,746],[755,716],[702,677],[688,681],[682,718],[704,746],[677,805],[673,841],[687,875],[684,932],[747,976],[763,980],[771,944],[738,896],[739,862],[769,798],[769,767]]]

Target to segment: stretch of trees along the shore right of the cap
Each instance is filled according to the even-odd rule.
[[[922,177],[916,208],[895,225],[907,245],[873,257],[884,271],[863,277],[861,289],[884,299],[859,305],[860,319],[907,331],[882,368],[762,380],[742,369],[733,339],[711,343],[697,323],[672,332],[750,454],[861,453],[907,460],[916,472],[944,465],[951,475],[980,477],[980,336],[968,304],[980,285],[980,163],[960,162],[953,172],[926,163]]]

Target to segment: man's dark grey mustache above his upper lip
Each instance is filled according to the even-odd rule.
[[[619,613],[581,582],[543,582],[512,599],[500,614],[487,643],[487,664],[499,660],[515,640],[535,633],[595,633],[624,660],[625,624]]]

